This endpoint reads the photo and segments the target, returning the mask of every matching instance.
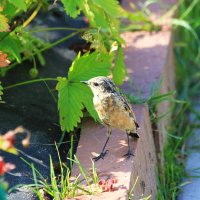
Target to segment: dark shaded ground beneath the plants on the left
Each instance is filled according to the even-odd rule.
[[[32,26],[34,27],[35,25],[76,28],[86,26],[82,18],[81,20],[72,20],[65,15],[62,9],[61,12],[52,10],[48,15],[46,13],[40,13]],[[51,32],[49,33],[48,41],[53,42],[70,33],[70,31]],[[45,34],[40,33],[38,35],[45,38]],[[76,44],[82,42],[80,36],[76,36],[46,51],[44,53],[46,65],[41,67],[39,66],[39,62],[37,62],[37,68],[39,70],[38,78],[66,76],[69,66],[75,56],[75,53],[69,50],[69,47],[73,45],[76,46]],[[5,77],[0,78],[2,85],[6,87],[30,80],[29,70],[32,67],[33,63],[31,62],[25,62],[16,66],[13,70],[10,70]],[[47,84],[56,96],[56,81],[47,82]],[[27,185],[34,183],[32,170],[22,161],[22,158],[29,163],[33,163],[42,175],[49,179],[49,155],[52,156],[55,164],[58,163],[58,156],[54,143],[59,142],[62,132],[59,126],[57,103],[54,102],[46,84],[40,82],[5,90],[3,100],[5,103],[0,104],[0,133],[3,134],[19,125],[22,125],[31,132],[30,146],[26,149],[21,145],[23,135],[17,137],[16,147],[19,149],[18,156],[1,152],[6,162],[11,162],[16,165],[16,169],[12,170],[5,177],[6,181],[9,183],[9,187],[11,188],[18,184]],[[76,138],[76,143],[77,140],[78,138]],[[67,162],[66,158],[69,148],[70,135],[66,133],[63,144],[59,148],[63,162]],[[37,198],[30,190],[17,189],[8,194],[8,200],[12,199],[35,200]]]

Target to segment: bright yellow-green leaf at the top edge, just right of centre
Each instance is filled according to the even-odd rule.
[[[96,6],[101,7],[108,15],[112,17],[121,16],[121,8],[116,0],[92,0]]]

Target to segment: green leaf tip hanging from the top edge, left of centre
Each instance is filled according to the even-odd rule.
[[[83,0],[61,0],[64,5],[66,13],[73,18],[76,18],[80,14],[80,5]]]

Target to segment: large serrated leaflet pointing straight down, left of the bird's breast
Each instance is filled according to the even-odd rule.
[[[58,90],[58,109],[60,125],[63,131],[72,131],[83,116],[83,104],[80,99],[80,89],[76,84],[69,83],[66,78],[59,78],[56,86]]]

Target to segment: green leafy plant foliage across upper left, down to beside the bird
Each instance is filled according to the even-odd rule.
[[[126,76],[122,45],[125,44],[120,36],[122,19],[128,19],[130,25],[150,24],[142,12],[125,11],[117,0],[61,0],[67,15],[77,18],[81,13],[87,18],[89,27],[75,32],[53,44],[43,42],[33,35],[34,29],[27,29],[38,12],[47,10],[50,5],[47,0],[2,0],[0,2],[0,51],[8,55],[12,64],[0,68],[0,75],[5,76],[17,64],[32,60],[30,70],[32,78],[36,78],[38,70],[35,57],[40,65],[45,64],[42,52],[70,39],[75,34],[82,33],[83,39],[91,43],[93,53],[79,53],[73,61],[68,75],[57,78],[58,109],[62,131],[72,131],[83,117],[84,108],[98,120],[93,108],[92,92],[81,80],[88,80],[95,76],[112,75],[116,84],[123,83]],[[22,17],[24,16],[23,20]],[[19,19],[19,20],[16,20]],[[139,23],[138,23],[139,22]],[[146,27],[146,26],[144,26]],[[64,27],[72,30],[70,27]],[[56,29],[56,28],[55,28]],[[29,81],[30,83],[30,81]],[[2,95],[0,86],[0,95]]]

